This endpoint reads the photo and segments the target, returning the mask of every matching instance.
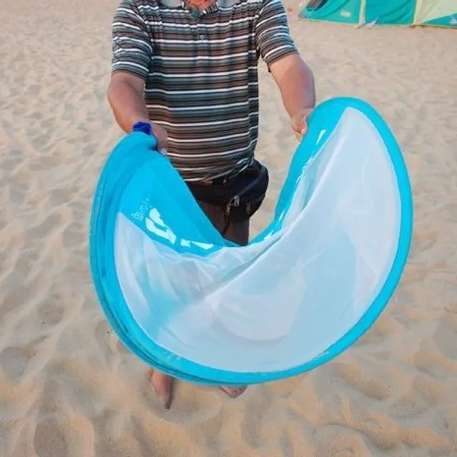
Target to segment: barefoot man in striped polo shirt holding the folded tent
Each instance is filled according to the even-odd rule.
[[[316,103],[313,74],[291,38],[281,0],[121,0],[112,46],[108,98],[117,123],[127,133],[153,134],[189,185],[211,188],[252,164],[259,57],[297,136]],[[221,207],[199,204],[226,238],[248,243],[248,220],[225,226]],[[152,373],[166,408],[171,381]],[[245,389],[221,388],[231,397]]]

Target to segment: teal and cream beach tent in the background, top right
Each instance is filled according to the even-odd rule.
[[[457,28],[457,0],[311,0],[300,16],[347,24]]]

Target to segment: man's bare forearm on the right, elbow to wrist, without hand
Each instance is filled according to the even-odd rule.
[[[281,76],[278,85],[289,116],[292,117],[305,108],[316,106],[313,72],[303,60],[296,59]]]

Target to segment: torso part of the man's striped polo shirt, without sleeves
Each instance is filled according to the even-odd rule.
[[[239,171],[252,159],[260,8],[261,1],[241,0],[197,18],[179,4],[139,6],[154,55],[144,94],[149,118],[166,129],[169,157],[189,181]]]

